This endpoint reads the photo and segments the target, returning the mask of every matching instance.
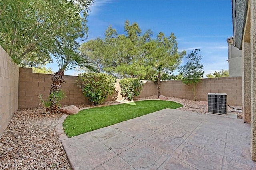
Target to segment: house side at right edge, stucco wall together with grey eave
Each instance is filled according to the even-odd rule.
[[[243,119],[251,124],[250,153],[256,161],[256,0],[232,0],[232,15],[234,45],[242,50]]]

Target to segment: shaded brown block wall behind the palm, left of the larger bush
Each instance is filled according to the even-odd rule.
[[[66,91],[67,97],[62,100],[62,105],[78,105],[88,103],[88,98],[84,97],[82,90],[76,85],[77,76],[65,76],[66,83],[62,84],[62,89]],[[19,108],[38,107],[39,94],[44,97],[49,96],[51,87],[50,74],[32,73],[31,68],[20,68],[19,77]]]

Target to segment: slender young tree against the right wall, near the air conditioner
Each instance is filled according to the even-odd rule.
[[[202,56],[198,54],[200,49],[194,49],[186,56],[188,61],[185,65],[178,68],[180,74],[182,74],[182,83],[186,85],[192,86],[192,91],[194,94],[194,100],[197,101],[196,98],[196,85],[202,81],[204,71],[204,65],[200,63]]]

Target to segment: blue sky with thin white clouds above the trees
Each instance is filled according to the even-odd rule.
[[[228,69],[228,43],[233,36],[231,0],[95,0],[88,16],[89,38],[104,38],[112,25],[124,34],[124,22],[139,24],[142,33],[150,29],[156,36],[171,32],[178,50],[201,49],[205,74]],[[186,61],[183,61],[183,63]],[[58,71],[54,64],[48,65]],[[175,72],[176,73],[176,72]],[[68,71],[66,75],[77,75]]]

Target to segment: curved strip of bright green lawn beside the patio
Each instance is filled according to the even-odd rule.
[[[144,100],[95,107],[79,111],[76,115],[69,115],[65,119],[63,127],[66,135],[70,138],[162,109],[179,107],[182,107],[180,103],[162,100]]]

